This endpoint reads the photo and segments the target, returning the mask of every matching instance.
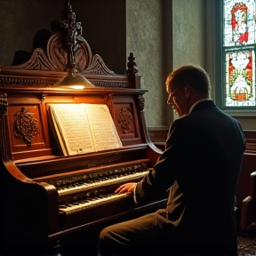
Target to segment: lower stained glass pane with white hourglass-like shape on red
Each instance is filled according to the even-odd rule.
[[[252,107],[255,104],[255,52],[226,52],[226,107]]]

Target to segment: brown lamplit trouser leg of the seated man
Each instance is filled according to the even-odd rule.
[[[166,244],[166,237],[171,236],[173,230],[172,223],[166,220],[164,214],[165,210],[159,210],[104,228],[99,239],[100,256],[160,256],[163,251],[161,248],[170,246]],[[172,239],[168,240],[172,243]]]

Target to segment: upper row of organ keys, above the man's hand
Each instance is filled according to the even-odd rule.
[[[112,185],[115,184],[117,182],[128,182],[130,180],[134,180],[137,178],[142,178],[144,177],[146,174],[148,173],[147,171],[143,171],[143,172],[134,172],[132,174],[127,174],[127,173],[123,173],[122,175],[113,175],[110,177],[100,177],[97,178],[95,180],[83,180],[77,183],[74,183],[72,185],[69,186],[65,186],[65,187],[57,187],[58,193],[59,193],[59,197],[60,196],[67,196],[70,194],[74,194],[74,193],[79,193],[79,192],[84,192],[86,190],[91,190],[91,189],[95,189],[95,188],[100,188],[103,186],[108,186],[108,185]]]

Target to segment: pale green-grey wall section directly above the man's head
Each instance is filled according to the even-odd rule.
[[[173,68],[205,68],[204,0],[172,0]]]

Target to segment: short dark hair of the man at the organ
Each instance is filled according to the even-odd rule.
[[[202,94],[209,93],[211,88],[209,75],[204,68],[196,65],[185,65],[174,69],[167,76],[166,89],[170,89],[171,84],[173,84],[174,88],[184,87],[189,84],[196,92]]]

